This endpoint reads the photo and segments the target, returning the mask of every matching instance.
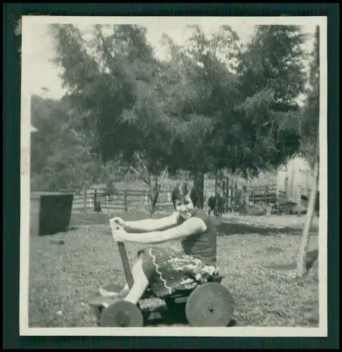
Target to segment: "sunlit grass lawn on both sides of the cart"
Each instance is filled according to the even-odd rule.
[[[124,283],[119,252],[109,227],[91,222],[94,219],[82,222],[78,218],[68,232],[31,237],[29,327],[95,327],[87,298],[100,286]],[[79,226],[82,223],[86,226]],[[237,229],[228,223],[217,228],[218,265],[224,275],[223,284],[235,298],[238,326],[318,327],[317,261],[301,280],[287,275],[291,271],[264,267],[296,260],[301,240],[298,232],[242,231],[241,226]],[[64,244],[54,239],[63,239]],[[126,245],[130,260],[141,247]],[[310,238],[310,248],[317,248],[317,232]]]

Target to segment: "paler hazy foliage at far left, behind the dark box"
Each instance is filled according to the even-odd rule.
[[[61,101],[32,96],[32,189],[80,189],[119,173],[119,165],[103,164],[77,130],[77,111]],[[74,123],[76,122],[76,123]]]

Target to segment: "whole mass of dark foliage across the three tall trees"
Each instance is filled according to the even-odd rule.
[[[242,46],[227,25],[209,36],[190,26],[185,46],[164,35],[165,61],[144,27],[96,25],[88,40],[74,25],[52,29],[77,131],[100,160],[140,175],[152,206],[166,172],[188,170],[196,181],[225,168],[249,177],[298,151],[300,27],[258,26]]]

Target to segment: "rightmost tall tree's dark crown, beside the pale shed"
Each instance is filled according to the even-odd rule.
[[[225,115],[221,158],[245,177],[275,167],[298,152],[300,108],[296,99],[305,84],[301,28],[258,26],[240,51],[239,96]]]

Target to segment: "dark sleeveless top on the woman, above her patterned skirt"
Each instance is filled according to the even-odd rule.
[[[194,218],[199,218],[206,224],[206,231],[201,234],[194,234],[183,239],[183,251],[188,256],[194,256],[202,260],[206,265],[216,266],[216,229],[210,218],[202,210],[197,210]],[[180,218],[179,222],[185,220]]]

